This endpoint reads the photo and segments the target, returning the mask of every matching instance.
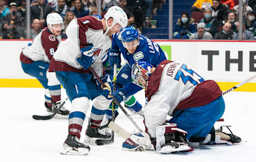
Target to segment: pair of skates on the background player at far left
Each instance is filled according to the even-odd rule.
[[[47,112],[53,112],[53,109],[57,109],[60,102],[52,103],[52,108],[48,107],[46,102],[44,102],[44,105],[46,107]],[[68,119],[69,111],[65,109],[65,107],[61,107],[60,110],[57,112],[57,114],[54,116],[54,118],[57,119]]]

